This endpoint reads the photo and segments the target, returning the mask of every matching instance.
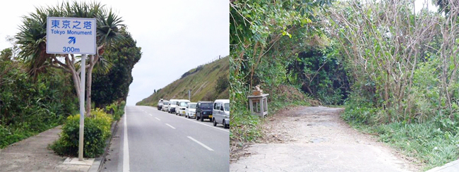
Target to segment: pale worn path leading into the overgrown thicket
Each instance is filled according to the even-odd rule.
[[[419,171],[410,160],[342,121],[344,109],[300,106],[266,118],[229,171]]]

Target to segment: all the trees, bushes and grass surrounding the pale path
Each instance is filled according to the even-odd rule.
[[[378,135],[425,169],[457,159],[459,6],[436,1],[436,7],[232,2],[232,149],[261,137],[263,119],[249,115],[246,99],[260,85],[270,94],[270,114],[292,104],[342,105],[342,118],[354,128]],[[280,87],[306,96],[288,97]]]

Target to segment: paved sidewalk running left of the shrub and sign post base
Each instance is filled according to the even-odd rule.
[[[0,150],[0,171],[89,171],[91,166],[64,164],[48,145],[59,138],[61,126],[46,130]]]

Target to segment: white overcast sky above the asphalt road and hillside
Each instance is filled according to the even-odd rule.
[[[62,0],[3,1],[0,6],[0,51],[12,45],[7,36],[18,32],[21,16],[35,6],[56,6]],[[90,2],[90,1],[88,1]],[[128,105],[153,94],[183,73],[220,56],[229,55],[228,0],[108,1],[128,26],[142,58],[134,66]]]

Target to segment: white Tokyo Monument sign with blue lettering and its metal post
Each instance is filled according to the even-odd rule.
[[[86,54],[96,53],[95,18],[47,18],[47,54],[82,54],[80,74],[80,131],[78,161],[83,161],[85,130]],[[77,90],[78,91],[78,90]]]

